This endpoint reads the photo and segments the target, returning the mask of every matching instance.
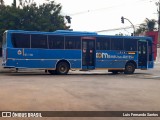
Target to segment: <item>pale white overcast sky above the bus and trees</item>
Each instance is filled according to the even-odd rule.
[[[7,0],[12,2],[13,0]],[[43,3],[45,0],[34,0]],[[39,2],[41,1],[41,2]],[[71,28],[76,31],[101,31],[115,28],[125,28],[131,24],[125,20],[121,23],[121,16],[128,18],[134,25],[141,24],[146,18],[158,18],[158,0],[55,0],[61,3],[62,14],[72,17]],[[133,29],[112,30],[105,34],[122,32],[130,34]]]

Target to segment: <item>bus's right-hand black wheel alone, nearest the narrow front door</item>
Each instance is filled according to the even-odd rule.
[[[133,63],[127,63],[125,66],[124,74],[133,74],[135,71],[135,66]]]

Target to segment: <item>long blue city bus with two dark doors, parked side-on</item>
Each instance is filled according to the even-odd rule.
[[[69,70],[97,69],[133,74],[135,69],[153,68],[152,44],[150,37],[7,30],[3,34],[2,66],[61,75]]]

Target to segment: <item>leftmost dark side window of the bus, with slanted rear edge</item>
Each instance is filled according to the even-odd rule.
[[[12,44],[15,48],[30,48],[30,35],[12,33]]]

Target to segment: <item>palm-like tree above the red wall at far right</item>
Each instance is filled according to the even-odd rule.
[[[156,24],[157,24],[156,20],[154,20],[154,19],[150,20],[150,19],[146,18],[144,23],[140,24],[139,28],[136,30],[136,35],[142,34],[147,31],[157,30]]]

